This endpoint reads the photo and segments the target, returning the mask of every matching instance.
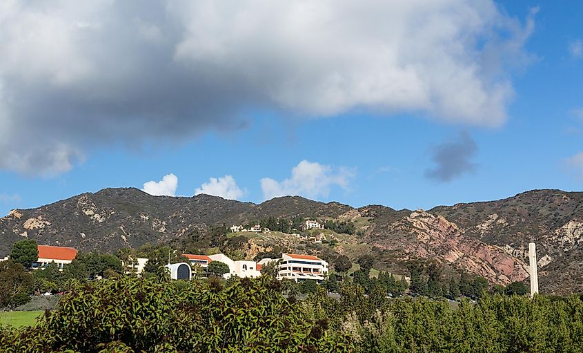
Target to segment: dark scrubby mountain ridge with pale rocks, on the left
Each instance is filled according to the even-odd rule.
[[[350,207],[299,197],[256,205],[210,195],[181,198],[152,196],[138,189],[103,189],[37,209],[12,210],[0,218],[0,255],[8,254],[12,243],[22,238],[83,251],[115,251],[146,242],[170,242],[208,225],[240,224],[267,216],[334,217],[346,209]]]

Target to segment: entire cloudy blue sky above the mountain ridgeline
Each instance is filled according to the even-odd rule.
[[[162,19],[120,3],[9,1],[0,14],[18,16],[0,26],[0,213],[170,173],[146,191],[428,209],[582,190],[583,3],[420,2],[283,13],[177,1]],[[37,28],[22,29],[28,17]],[[408,32],[419,19],[424,30]]]

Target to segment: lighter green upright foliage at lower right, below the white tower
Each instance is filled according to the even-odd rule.
[[[339,303],[319,292],[306,305],[349,334],[355,352],[583,352],[579,296],[485,295],[454,309],[446,300],[366,296],[357,285],[341,292]]]

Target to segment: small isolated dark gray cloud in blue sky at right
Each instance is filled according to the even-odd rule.
[[[431,160],[433,168],[426,169],[425,176],[439,182],[450,182],[466,173],[475,171],[472,162],[477,146],[468,133],[460,133],[455,140],[446,141],[435,148]]]

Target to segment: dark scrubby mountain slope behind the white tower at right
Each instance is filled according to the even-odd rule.
[[[471,238],[527,261],[536,242],[539,282],[549,292],[583,291],[583,193],[535,190],[491,202],[435,207]]]

